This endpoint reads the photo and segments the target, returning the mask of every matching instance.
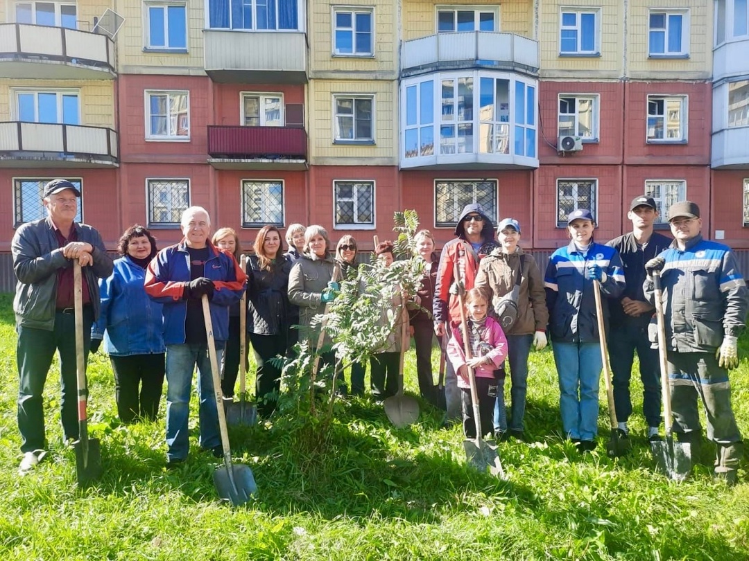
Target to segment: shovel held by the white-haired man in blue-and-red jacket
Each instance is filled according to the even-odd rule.
[[[210,373],[213,375],[213,391],[216,393],[216,409],[219,412],[219,431],[221,432],[221,446],[224,450],[224,464],[213,472],[213,485],[219,491],[219,497],[228,500],[234,506],[240,506],[249,500],[252,494],[258,492],[255,476],[246,465],[231,463],[229,449],[229,434],[224,416],[224,404],[221,395],[221,378],[219,376],[219,361],[216,359],[216,342],[213,340],[213,321],[210,319],[210,304],[207,295],[202,295],[203,318],[205,320],[205,334],[208,340],[208,356],[210,357]]]

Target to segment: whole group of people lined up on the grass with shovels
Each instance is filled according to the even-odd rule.
[[[121,257],[112,260],[97,230],[75,222],[78,197],[72,183],[52,180],[43,190],[46,218],[23,224],[13,236],[20,470],[31,470],[44,455],[42,393],[55,350],[61,362],[64,439],[79,436],[74,261],[84,272],[84,352],[96,352],[103,341],[112,362],[121,420],[154,419],[166,378],[167,466],[185,462],[192,373],[197,367],[198,444],[222,456],[204,298],[222,362],[223,396],[234,397],[244,340],[240,318],[245,314],[248,347],[252,346],[257,365],[258,414],[267,417],[276,407],[281,377],[279,361],[273,359],[290,355],[300,336],[318,344],[319,326],[315,333],[312,319],[336,298],[342,279],[357,275],[356,240],[342,236],[330,251],[324,227],[292,224],[284,252],[281,232],[268,225],[258,232],[252,254],[243,260],[237,233],[221,228],[210,238],[210,216],[192,206],[182,215],[181,242],[157,251],[154,236],[135,225],[121,236]],[[543,349],[551,339],[563,432],[581,452],[593,450],[602,368],[593,292],[593,283],[598,283],[604,296],[619,436],[628,438],[629,381],[636,351],[647,437],[658,438],[658,351],[649,340],[654,321],[652,275],[658,271],[664,286],[674,431],[678,438],[697,443],[699,396],[706,408],[708,437],[718,447],[715,473],[736,482],[742,437],[730,404],[728,370],[738,364],[736,339],[745,328],[746,284],[730,249],[702,238],[697,204],[685,201],[669,209],[673,242],[654,231],[657,216],[651,197],[636,197],[628,212],[631,233],[602,245],[593,239],[592,212],[574,210],[568,215],[570,242],[554,252],[545,275],[519,245],[521,224],[503,219],[495,236],[491,219],[478,204],[463,209],[455,239],[439,258],[434,237],[428,230],[419,231],[415,242],[423,266],[421,286],[413,295],[396,290],[392,301],[383,302],[383,310],[403,310],[402,298],[414,304],[410,316],[395,322],[391,337],[371,358],[372,396],[385,399],[397,390],[398,355],[404,344],[399,334],[407,321],[416,345],[422,398],[443,406],[448,420],[461,419],[466,436],[475,437],[468,390],[468,370],[473,370],[485,431],[500,440],[523,439],[530,350]],[[392,242],[383,242],[376,245],[375,256],[388,267],[393,251]],[[240,308],[243,295],[245,309]],[[383,322],[386,316],[383,313]],[[444,387],[434,384],[432,373],[435,335],[449,359]],[[321,362],[334,364],[333,353],[323,355]],[[509,411],[506,362],[512,388]],[[364,364],[351,365],[351,393],[356,396],[365,391],[365,370]],[[338,390],[348,392],[345,381]]]

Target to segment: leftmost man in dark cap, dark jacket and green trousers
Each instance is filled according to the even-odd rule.
[[[18,429],[26,473],[44,455],[42,393],[55,350],[60,355],[61,420],[64,441],[78,438],[76,411],[76,319],[73,261],[82,266],[84,356],[99,311],[99,278],[112,274],[112,257],[91,226],[76,223],[80,191],[66,180],[44,186],[46,218],[22,224],[11,242],[18,278],[13,311],[18,343]]]

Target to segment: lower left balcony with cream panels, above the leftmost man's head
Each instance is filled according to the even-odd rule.
[[[0,168],[116,168],[117,133],[103,126],[0,123]]]

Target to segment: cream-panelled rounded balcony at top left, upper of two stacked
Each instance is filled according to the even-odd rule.
[[[106,35],[48,25],[0,23],[0,76],[53,80],[115,77],[115,43]]]

